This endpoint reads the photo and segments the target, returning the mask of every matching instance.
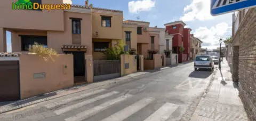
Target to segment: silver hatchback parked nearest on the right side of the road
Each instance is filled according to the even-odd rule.
[[[194,63],[195,70],[197,69],[210,69],[214,70],[214,62],[210,55],[198,55],[196,56]]]

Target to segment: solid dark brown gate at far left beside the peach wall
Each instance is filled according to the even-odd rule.
[[[19,61],[0,61],[0,101],[20,99]]]

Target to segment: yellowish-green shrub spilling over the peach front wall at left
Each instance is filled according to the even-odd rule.
[[[42,57],[45,61],[49,59],[54,61],[52,55],[57,55],[57,52],[55,50],[46,48],[43,45],[39,45],[38,43],[35,43],[35,45],[30,47],[29,52],[39,55],[39,57]]]

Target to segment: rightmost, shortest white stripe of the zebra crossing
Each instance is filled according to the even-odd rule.
[[[154,114],[150,115],[144,121],[167,120],[178,107],[179,106],[177,104],[165,103],[161,108],[155,111]]]

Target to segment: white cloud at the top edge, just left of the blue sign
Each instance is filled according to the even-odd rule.
[[[210,20],[213,19],[210,14],[210,0],[193,0],[184,10],[184,15],[180,18],[182,21]]]

